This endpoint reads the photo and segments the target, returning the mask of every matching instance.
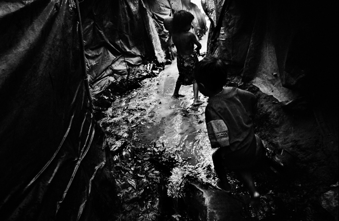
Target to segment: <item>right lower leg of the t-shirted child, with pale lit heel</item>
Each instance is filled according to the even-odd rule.
[[[241,169],[237,170],[236,174],[239,176],[239,178],[242,180],[244,186],[250,192],[251,194],[251,205],[252,206],[258,206],[260,202],[260,194],[257,191],[257,188],[254,184],[253,176],[250,170]]]

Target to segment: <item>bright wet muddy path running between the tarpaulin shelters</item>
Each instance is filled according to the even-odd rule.
[[[200,42],[200,52],[203,53],[206,51],[207,35]],[[204,103],[193,106],[191,85],[181,86],[179,93],[185,97],[172,98],[177,78],[178,69],[174,60],[172,64],[166,65],[157,78],[146,79],[140,88],[117,97],[112,108],[106,111],[107,117],[101,120],[101,124],[106,127],[106,131],[130,142],[163,145],[179,161],[185,174],[194,173],[214,183],[211,176],[207,180],[205,173],[206,167],[210,168],[208,173],[213,171],[213,150],[207,137],[204,116],[207,97],[199,93],[199,99]],[[108,138],[108,142],[113,147],[119,146],[116,138]]]

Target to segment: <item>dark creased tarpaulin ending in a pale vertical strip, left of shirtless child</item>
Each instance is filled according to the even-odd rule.
[[[85,52],[92,92],[106,88],[109,76],[127,73],[154,56],[159,63],[165,54],[152,18],[142,0],[83,1],[80,3]]]

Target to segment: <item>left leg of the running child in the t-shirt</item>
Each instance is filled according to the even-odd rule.
[[[227,192],[231,192],[231,187],[230,184],[228,183],[226,170],[223,164],[224,160],[223,149],[219,148],[218,150],[216,150],[212,155],[212,159],[214,164],[214,170],[218,178],[220,179],[220,184],[218,184],[218,186]]]

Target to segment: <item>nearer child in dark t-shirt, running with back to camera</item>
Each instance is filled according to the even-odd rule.
[[[235,87],[224,87],[227,62],[208,56],[195,71],[199,91],[209,97],[205,110],[208,138],[212,148],[218,186],[230,192],[225,167],[233,170],[251,195],[251,204],[259,203],[251,169],[265,156],[260,138],[254,134],[253,118],[257,98],[251,92]]]

